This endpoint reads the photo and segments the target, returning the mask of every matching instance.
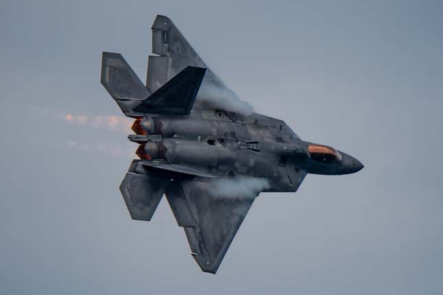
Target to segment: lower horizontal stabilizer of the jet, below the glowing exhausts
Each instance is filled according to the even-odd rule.
[[[134,161],[120,185],[120,191],[133,220],[150,221],[165,193],[170,178],[144,171]],[[143,172],[143,173],[139,173]]]

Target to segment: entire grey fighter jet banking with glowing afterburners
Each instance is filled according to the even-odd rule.
[[[196,54],[166,16],[152,25],[146,85],[120,54],[103,52],[101,82],[135,121],[137,143],[120,191],[133,220],[166,199],[203,272],[216,273],[260,192],[295,192],[306,174],[363,165],[302,141],[284,121],[253,113]]]

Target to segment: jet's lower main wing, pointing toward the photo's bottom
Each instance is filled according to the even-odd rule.
[[[215,274],[254,198],[220,198],[214,182],[205,178],[172,181],[166,198],[192,257],[204,272]]]

